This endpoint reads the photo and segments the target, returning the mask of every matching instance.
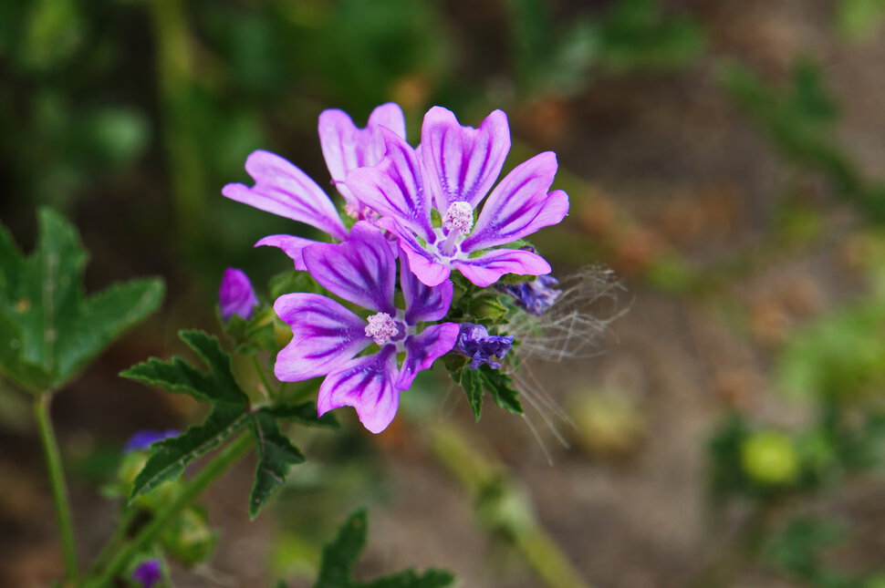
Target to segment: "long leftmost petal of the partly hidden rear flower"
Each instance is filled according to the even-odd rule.
[[[255,186],[227,184],[222,194],[231,200],[284,216],[328,232],[338,240],[347,237],[338,211],[326,192],[304,171],[269,151],[254,151],[245,160],[245,170]]]

